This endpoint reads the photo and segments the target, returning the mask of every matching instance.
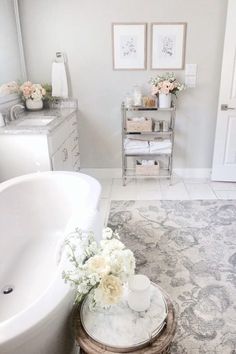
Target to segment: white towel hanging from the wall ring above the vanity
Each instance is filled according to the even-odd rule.
[[[52,96],[68,97],[68,83],[64,63],[54,62],[52,64]]]

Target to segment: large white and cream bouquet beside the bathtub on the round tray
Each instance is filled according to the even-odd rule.
[[[110,228],[103,231],[98,245],[92,233],[76,229],[65,240],[71,269],[62,274],[76,292],[79,303],[87,294],[90,308],[106,308],[118,303],[123,295],[123,284],[134,274],[133,252],[119,240]]]

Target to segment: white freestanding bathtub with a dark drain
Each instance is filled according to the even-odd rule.
[[[73,293],[61,278],[63,239],[98,227],[100,184],[39,172],[0,184],[0,353],[67,354]]]

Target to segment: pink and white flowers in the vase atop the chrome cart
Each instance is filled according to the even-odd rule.
[[[173,93],[176,96],[178,91],[183,91],[186,89],[184,84],[181,84],[176,80],[174,73],[165,73],[164,75],[158,75],[149,81],[152,84],[152,95],[157,95],[158,93],[169,94]]]

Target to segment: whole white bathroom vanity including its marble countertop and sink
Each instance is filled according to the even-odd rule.
[[[77,109],[25,112],[0,128],[0,182],[39,171],[79,171]]]

